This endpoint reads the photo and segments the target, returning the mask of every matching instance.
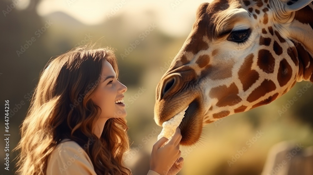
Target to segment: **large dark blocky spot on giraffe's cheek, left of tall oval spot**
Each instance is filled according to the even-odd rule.
[[[258,66],[266,73],[273,73],[275,67],[275,59],[269,50],[261,49],[258,55]]]

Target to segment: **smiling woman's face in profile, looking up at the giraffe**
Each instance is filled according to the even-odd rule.
[[[100,118],[125,118],[127,115],[123,93],[127,88],[117,81],[115,71],[111,64],[104,60],[99,86],[91,98],[93,103],[102,110]],[[121,100],[122,99],[122,100]],[[119,103],[115,103],[118,102]]]

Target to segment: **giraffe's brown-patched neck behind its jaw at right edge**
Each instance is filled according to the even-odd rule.
[[[288,53],[299,64],[297,81],[313,82],[313,2],[295,12],[289,33],[295,47],[290,47]]]

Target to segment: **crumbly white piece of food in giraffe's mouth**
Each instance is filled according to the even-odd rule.
[[[163,128],[162,128],[161,133],[157,136],[157,140],[160,140],[160,138],[165,137],[168,139],[168,141],[165,143],[167,144],[172,139],[176,131],[176,128],[182,122],[182,118],[184,118],[187,108],[188,106],[184,110],[182,110],[180,113],[175,115],[173,118],[169,119],[168,121],[162,124]]]

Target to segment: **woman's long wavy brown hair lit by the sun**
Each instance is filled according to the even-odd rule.
[[[109,47],[75,47],[51,58],[40,73],[21,127],[18,174],[46,174],[50,153],[64,138],[78,143],[89,155],[97,174],[129,175],[123,159],[129,151],[125,118],[109,118],[100,139],[92,126],[101,109],[91,97],[98,87],[106,59],[118,76],[117,60]],[[95,141],[87,144],[92,138]]]

